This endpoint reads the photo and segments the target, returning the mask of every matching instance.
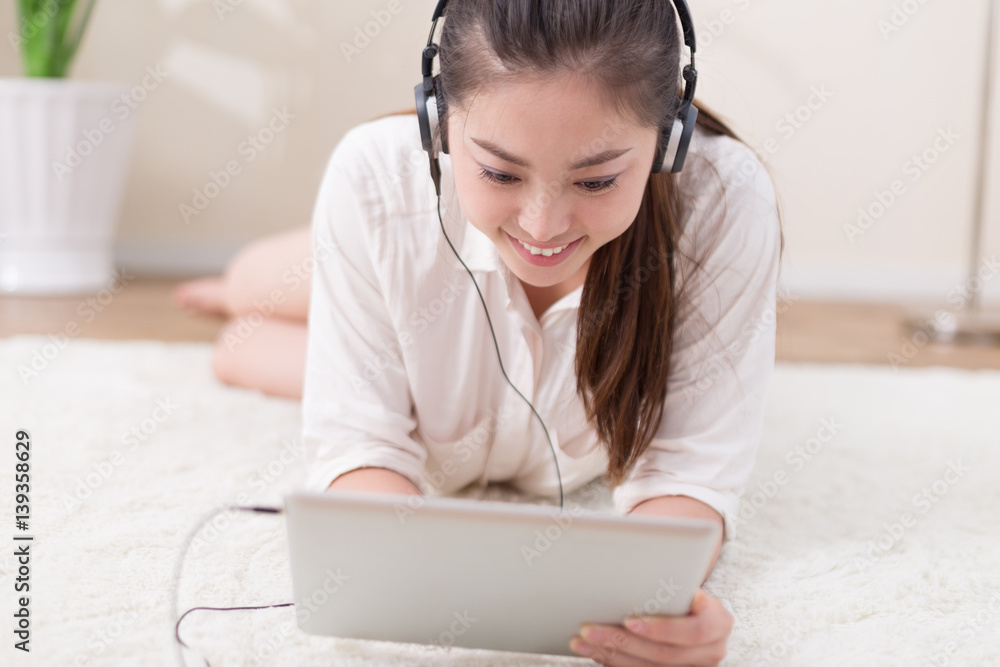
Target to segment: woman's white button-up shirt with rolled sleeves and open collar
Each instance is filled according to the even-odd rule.
[[[451,159],[440,158],[448,236],[482,291],[508,377],[545,422],[569,493],[608,465],[575,391],[583,287],[539,322],[492,241],[462,214]],[[728,541],[774,366],[779,225],[766,172],[728,137],[696,129],[680,188],[694,199],[679,249],[703,257],[704,270],[688,279],[693,308],[680,311],[659,429],[612,498],[621,514],[657,496],[696,498],[723,516]],[[552,450],[501,374],[479,295],[436,206],[415,115],[358,125],[333,151],[312,220],[308,487],[383,467],[432,495],[506,480],[558,498]],[[678,267],[685,278],[692,270],[683,257]]]

